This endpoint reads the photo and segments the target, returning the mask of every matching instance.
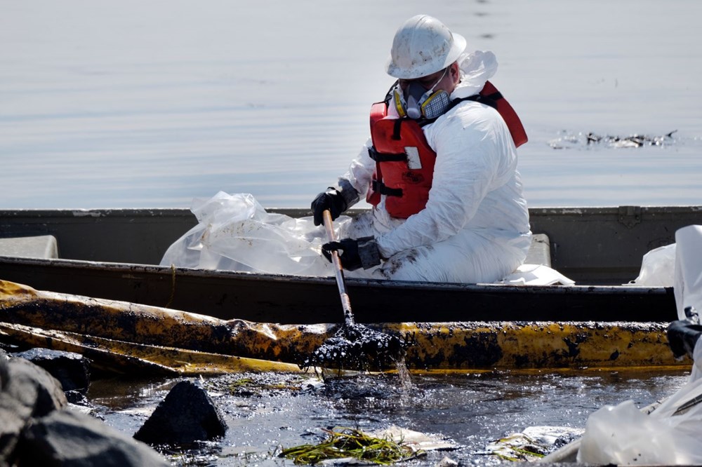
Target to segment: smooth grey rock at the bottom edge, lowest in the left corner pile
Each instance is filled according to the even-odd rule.
[[[59,410],[23,433],[18,459],[27,466],[170,466],[151,447],[86,414]]]

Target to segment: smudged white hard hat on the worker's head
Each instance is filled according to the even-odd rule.
[[[416,15],[397,29],[387,72],[399,79],[428,76],[458,60],[463,50],[465,37],[461,34],[451,34],[432,16]]]

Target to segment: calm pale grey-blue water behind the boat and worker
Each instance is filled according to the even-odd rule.
[[[367,136],[397,26],[429,13],[522,116],[532,206],[701,204],[696,0],[0,0],[0,208],[304,207]],[[663,147],[550,142],[594,132]]]

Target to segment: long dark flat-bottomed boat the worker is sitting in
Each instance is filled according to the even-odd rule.
[[[278,209],[291,217],[307,210]],[[355,212],[351,211],[353,215]],[[535,241],[527,262],[575,285],[420,283],[347,278],[358,323],[626,321],[676,319],[672,287],[624,285],[643,255],[702,224],[702,206],[531,208]],[[336,323],[333,277],[159,266],[197,224],[185,209],[1,210],[0,279],[220,319]],[[535,259],[534,259],[535,258]]]

